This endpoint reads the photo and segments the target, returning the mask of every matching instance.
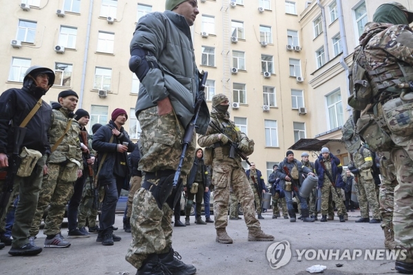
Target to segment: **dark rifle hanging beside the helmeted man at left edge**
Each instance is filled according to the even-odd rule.
[[[19,170],[21,157],[19,156],[20,147],[23,143],[27,128],[14,127],[14,146],[12,157],[8,159],[9,167],[6,174],[6,183],[3,186],[3,192],[0,193],[0,217],[3,215],[4,210],[8,207],[10,196],[13,191],[14,177]]]

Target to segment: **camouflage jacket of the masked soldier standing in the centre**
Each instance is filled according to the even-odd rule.
[[[241,132],[237,126],[235,126],[233,121],[229,120],[229,112],[220,114],[213,109],[211,110],[211,122],[209,123],[207,133],[199,136],[198,144],[201,147],[214,147],[213,164],[226,163],[234,167],[242,167],[240,156],[235,154],[234,159],[229,158],[229,150],[231,149],[231,146],[228,143],[222,144],[222,142],[220,142],[220,139],[218,138],[220,132],[215,129],[212,123],[215,123],[215,125],[235,143],[239,143],[242,139],[248,139],[246,134]]]

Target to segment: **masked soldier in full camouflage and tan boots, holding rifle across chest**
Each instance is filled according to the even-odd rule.
[[[248,137],[229,120],[229,112],[227,112],[229,100],[226,95],[215,94],[212,98],[212,107],[211,122],[207,133],[199,136],[198,143],[202,147],[208,147],[204,153],[206,162],[212,157],[212,183],[215,186],[213,212],[217,232],[215,241],[233,243],[232,238],[226,233],[230,185],[244,211],[244,221],[248,227],[248,241],[273,241],[274,237],[264,234],[260,222],[255,218],[253,190],[246,178],[240,156],[236,154],[234,159],[229,158],[231,149],[228,144],[229,139],[237,143],[242,152],[248,152],[250,150]]]

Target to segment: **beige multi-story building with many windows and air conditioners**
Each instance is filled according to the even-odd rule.
[[[229,96],[231,118],[254,139],[250,160],[264,174],[299,139],[341,138],[350,112],[346,69],[363,25],[384,2],[198,0],[191,30],[198,68],[209,72],[207,101]],[[412,9],[408,0],[399,2]],[[56,72],[46,101],[75,90],[90,125],[124,108],[136,140],[139,81],[127,66],[129,42],[140,17],[163,10],[163,0],[6,1],[0,90],[21,87],[30,65],[44,65]],[[328,146],[346,162],[343,145]]]

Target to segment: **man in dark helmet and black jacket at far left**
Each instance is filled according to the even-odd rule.
[[[36,247],[28,240],[28,237],[34,212],[36,212],[42,176],[47,171],[45,161],[47,155],[51,153],[47,132],[52,122],[52,108],[41,100],[41,96],[53,83],[54,72],[52,70],[33,66],[25,72],[23,88],[6,90],[0,96],[0,170],[7,170],[12,165],[9,157],[14,149],[14,128],[21,125],[36,104],[41,105],[25,126],[26,133],[21,144],[21,148],[26,147],[40,152],[41,158],[36,161],[30,176],[14,177],[13,191],[19,190],[20,199],[14,214],[13,241],[9,252],[13,256],[36,255],[42,251],[41,247]],[[19,153],[21,148],[19,148]],[[3,190],[4,183],[0,180],[0,190]],[[10,196],[10,199],[12,198],[13,194]],[[10,202],[7,205],[10,205]],[[3,215],[6,212],[7,209],[3,211]],[[1,221],[3,221],[3,216],[0,217],[0,224]],[[0,228],[0,234],[3,232],[4,228]]]

